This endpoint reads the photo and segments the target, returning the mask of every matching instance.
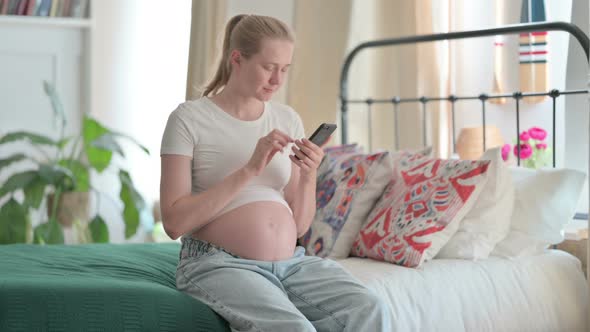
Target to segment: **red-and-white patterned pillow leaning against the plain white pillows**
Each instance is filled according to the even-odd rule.
[[[418,267],[459,228],[488,179],[489,160],[443,160],[405,153],[351,250]]]

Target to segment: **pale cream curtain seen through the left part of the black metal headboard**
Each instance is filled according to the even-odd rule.
[[[350,23],[349,49],[371,39],[430,34],[434,32],[435,26],[438,28],[445,22],[433,15],[433,4],[430,0],[355,0],[352,12],[355,15]],[[446,17],[448,14],[443,15]],[[440,57],[444,52],[444,48],[441,49],[434,43],[362,51],[351,67],[350,97],[364,99],[438,96],[445,92],[448,79],[446,72],[442,72],[441,75],[441,69],[448,68],[446,63],[443,63],[445,58]],[[371,132],[368,132],[366,127],[367,112],[361,111],[361,108],[365,107],[363,105],[350,108],[351,140],[367,146],[371,139],[373,149],[394,149],[393,106],[372,106]],[[447,131],[448,112],[445,105],[429,103],[426,116],[426,144],[432,145],[437,155],[447,156],[450,136]],[[423,145],[422,120],[419,104],[403,104],[400,107],[400,148],[418,148]]]

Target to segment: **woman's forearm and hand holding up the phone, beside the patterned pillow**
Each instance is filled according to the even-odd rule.
[[[323,150],[307,139],[296,141],[299,149],[293,152],[299,157],[290,156],[293,162],[291,179],[285,188],[285,200],[293,211],[297,226],[297,237],[309,229],[316,211],[317,168],[324,157]]]

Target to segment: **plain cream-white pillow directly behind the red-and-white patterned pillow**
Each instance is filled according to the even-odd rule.
[[[480,160],[490,160],[488,181],[436,258],[485,259],[510,230],[514,185],[502,149],[487,150]]]

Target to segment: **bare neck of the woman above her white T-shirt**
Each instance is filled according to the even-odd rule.
[[[211,97],[211,100],[223,111],[240,120],[256,120],[264,112],[262,101],[251,96],[244,96],[228,86]]]

